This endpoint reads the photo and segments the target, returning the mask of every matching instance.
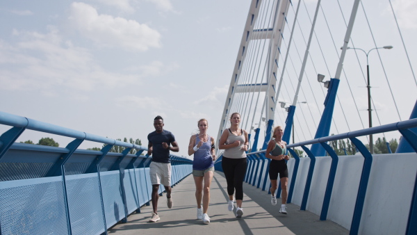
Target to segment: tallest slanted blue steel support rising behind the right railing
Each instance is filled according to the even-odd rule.
[[[327,90],[327,96],[325,99],[325,111],[323,111],[322,117],[320,119],[320,124],[318,124],[316,136],[314,136],[315,139],[329,136],[338,84],[339,79],[330,79],[329,90]],[[311,146],[311,153],[314,156],[325,156],[326,150],[322,147],[322,145],[317,143]]]

